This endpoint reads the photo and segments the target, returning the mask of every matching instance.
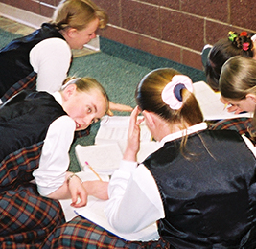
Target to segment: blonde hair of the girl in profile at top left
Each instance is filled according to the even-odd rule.
[[[99,28],[105,28],[108,17],[104,10],[90,0],[62,0],[54,12],[51,23],[58,30],[75,28],[82,30],[87,25],[99,19]]]

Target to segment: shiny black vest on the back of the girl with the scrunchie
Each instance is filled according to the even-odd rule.
[[[255,157],[232,130],[204,130],[148,157],[164,204],[158,230],[175,248],[254,248]],[[255,241],[254,241],[255,240]],[[241,245],[241,247],[240,247]]]

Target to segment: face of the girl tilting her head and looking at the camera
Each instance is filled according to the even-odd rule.
[[[76,122],[76,130],[87,128],[105,115],[107,103],[98,89],[78,92],[76,85],[71,84],[63,90],[62,97],[62,107]]]

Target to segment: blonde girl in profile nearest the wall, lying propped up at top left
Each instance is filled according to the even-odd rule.
[[[62,0],[49,23],[0,50],[0,103],[22,89],[58,91],[68,74],[71,49],[82,49],[107,20],[105,11],[91,0]],[[113,110],[132,110],[110,104]]]

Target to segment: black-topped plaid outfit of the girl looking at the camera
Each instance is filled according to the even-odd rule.
[[[58,200],[40,196],[31,182],[48,127],[65,112],[47,93],[20,96],[0,108],[1,248],[39,248],[65,222]]]

